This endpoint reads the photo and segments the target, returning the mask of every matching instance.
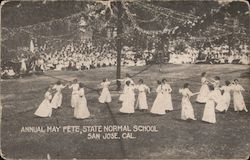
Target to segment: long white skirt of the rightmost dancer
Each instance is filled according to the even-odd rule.
[[[246,104],[244,101],[244,97],[242,96],[241,92],[234,92],[233,93],[233,101],[234,101],[234,111],[248,111],[246,108]]]

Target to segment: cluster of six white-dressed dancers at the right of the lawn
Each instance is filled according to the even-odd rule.
[[[225,81],[225,85],[220,86],[220,77],[215,76],[213,79],[208,80],[206,78],[206,72],[201,74],[201,89],[197,93],[192,93],[188,86],[188,83],[185,83],[183,88],[179,89],[179,92],[182,94],[182,111],[181,119],[187,120],[192,119],[196,120],[194,116],[194,110],[190,102],[190,97],[198,95],[196,102],[204,103],[205,108],[203,112],[202,121],[208,123],[216,123],[216,110],[218,112],[227,112],[230,102],[231,102],[231,92],[233,92],[233,106],[234,111],[246,111],[246,104],[242,91],[244,88],[239,84],[238,79],[233,81]]]

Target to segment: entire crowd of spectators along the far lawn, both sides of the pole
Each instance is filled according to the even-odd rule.
[[[117,53],[108,44],[96,47],[91,41],[87,41],[85,43],[69,43],[50,52],[41,47],[39,51],[39,56],[33,60],[30,56],[21,55],[19,69],[15,69],[13,66],[1,67],[1,77],[16,78],[32,71],[79,71],[116,65]],[[142,50],[124,46],[121,52],[121,65],[144,66],[150,63],[159,63],[159,59],[167,59],[164,62],[172,64],[250,64],[248,45],[240,45],[238,49],[230,49],[230,52],[228,45],[203,49],[186,46],[183,51],[178,51],[170,46],[168,50],[163,52],[160,55],[160,52],[155,48]]]

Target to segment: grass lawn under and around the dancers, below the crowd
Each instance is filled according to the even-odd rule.
[[[145,69],[146,68],[146,69]],[[161,69],[161,71],[159,71]],[[142,71],[140,74],[140,71]],[[132,116],[121,115],[118,110],[118,92],[111,91],[113,101],[110,114],[105,104],[98,103],[98,94],[85,89],[88,107],[93,118],[76,120],[70,105],[71,90],[63,90],[61,109],[53,110],[51,118],[37,118],[34,112],[42,102],[46,88],[57,80],[50,76],[73,80],[78,78],[86,86],[97,88],[103,78],[114,79],[115,67],[89,71],[48,71],[46,75],[26,77],[17,80],[1,81],[1,149],[7,158],[45,159],[87,159],[87,158],[246,158],[250,153],[250,112],[236,113],[232,102],[225,114],[217,113],[216,124],[201,121],[204,105],[191,98],[197,121],[182,121],[181,95],[178,89],[184,83],[190,84],[193,92],[200,89],[200,74],[206,71],[208,77],[216,75],[221,82],[238,78],[246,89],[243,93],[250,110],[250,79],[248,65],[158,65],[143,67],[123,67],[126,73],[136,75],[155,90],[156,80],[167,78],[173,89],[174,111],[164,116],[152,116],[137,111]],[[49,75],[49,76],[47,76]],[[115,89],[115,85],[110,87]],[[151,107],[156,93],[148,95]],[[115,121],[114,121],[115,119]],[[93,125],[155,125],[158,132],[135,132],[135,139],[89,140],[86,133],[21,133],[22,126],[93,126]]]

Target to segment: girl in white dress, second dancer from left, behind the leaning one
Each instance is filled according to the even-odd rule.
[[[63,85],[61,81],[57,81],[56,85],[52,89],[56,90],[54,97],[51,101],[52,108],[57,109],[62,105],[62,89],[64,89],[66,85]]]

